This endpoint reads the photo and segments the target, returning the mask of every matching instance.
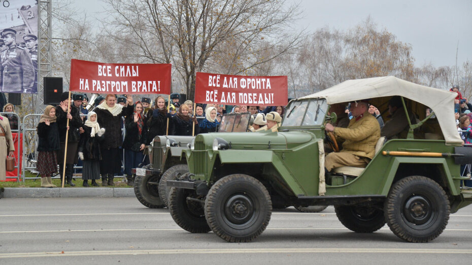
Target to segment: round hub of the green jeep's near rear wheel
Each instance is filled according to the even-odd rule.
[[[421,195],[412,196],[405,203],[404,216],[416,225],[426,223],[431,216],[429,201]]]

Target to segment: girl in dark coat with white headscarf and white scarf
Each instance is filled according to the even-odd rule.
[[[105,128],[100,128],[97,122],[97,115],[90,111],[87,113],[87,120],[84,124],[84,133],[81,134],[79,143],[79,157],[84,162],[82,168],[83,186],[88,187],[88,180],[91,179],[92,186],[98,186],[95,180],[100,178],[100,142],[103,141]]]

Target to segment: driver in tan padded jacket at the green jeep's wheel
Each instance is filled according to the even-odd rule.
[[[368,112],[366,100],[351,102],[352,120],[347,128],[325,125],[325,130],[345,139],[339,153],[329,153],[324,166],[327,172],[333,168],[350,166],[365,167],[375,155],[375,146],[380,138],[380,125]]]

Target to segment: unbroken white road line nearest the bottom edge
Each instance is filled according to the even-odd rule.
[[[108,255],[162,255],[162,254],[235,254],[235,253],[441,253],[472,254],[471,249],[412,249],[412,248],[230,248],[230,249],[149,249],[108,251],[66,251],[0,253],[0,258],[60,257],[60,256],[108,256]]]

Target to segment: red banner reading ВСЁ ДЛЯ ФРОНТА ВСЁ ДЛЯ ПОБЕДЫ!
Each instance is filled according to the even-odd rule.
[[[225,105],[285,106],[287,77],[245,77],[197,72],[195,102]]]

